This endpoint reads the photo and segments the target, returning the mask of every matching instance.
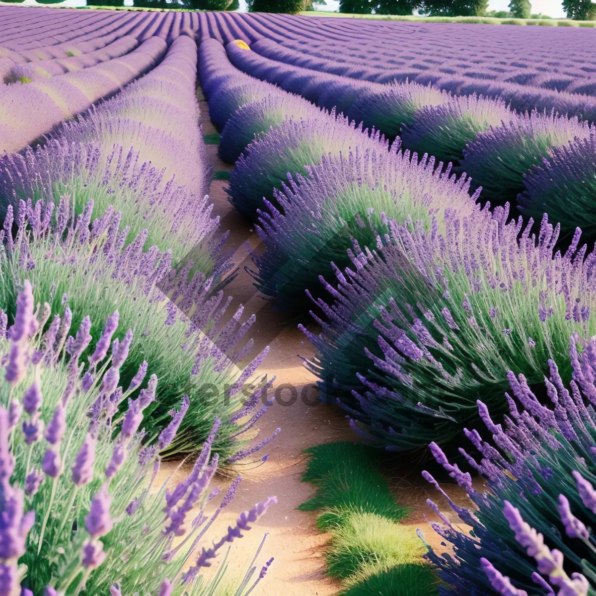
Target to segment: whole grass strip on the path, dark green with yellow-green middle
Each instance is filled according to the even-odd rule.
[[[395,502],[380,473],[381,451],[343,441],[305,453],[311,458],[302,480],[318,491],[298,509],[322,510],[317,526],[333,533],[326,573],[342,582],[342,594],[436,595],[424,543],[414,526],[399,523],[409,510]]]

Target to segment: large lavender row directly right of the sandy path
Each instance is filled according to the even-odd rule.
[[[322,312],[321,318],[312,313],[322,333],[303,327],[317,349],[306,364],[321,378],[323,392],[377,444],[412,449],[430,443],[479,507],[470,513],[449,501],[473,526],[472,535],[446,517],[434,526],[456,547],[455,554],[431,555],[446,581],[439,591],[591,593],[596,256],[580,245],[581,231],[563,253],[556,251],[560,226],[546,216],[535,235],[531,219],[509,221],[508,204],[480,209],[482,192],[470,196],[470,181],[450,176],[450,167],[402,153],[399,137],[389,149],[378,133],[234,70],[228,57],[235,62],[251,54],[243,44],[226,50],[201,44],[201,85],[222,128],[222,156],[242,153],[228,194],[259,221],[266,250],[253,274],[260,289],[296,311],[308,288]],[[307,94],[324,87],[316,74],[294,74],[275,82],[290,79]],[[402,97],[406,92],[434,94],[414,85],[405,86]],[[474,98],[448,98],[460,107],[474,102],[482,107]],[[496,107],[505,113],[503,104]],[[586,125],[538,114],[526,120],[561,135],[554,142],[536,135],[536,145],[550,156],[548,167],[562,160],[569,178],[588,178],[582,167],[594,154],[593,132],[569,150],[552,148],[561,138],[563,145],[590,136]],[[579,167],[565,162],[572,153],[584,156]],[[336,281],[322,276],[318,289],[312,271]],[[536,398],[543,393],[552,409]],[[504,431],[488,412],[501,415],[507,408]],[[474,492],[470,474],[449,464],[437,445],[451,449],[461,428],[480,418],[492,440],[464,432],[481,461],[460,452],[486,477],[491,495]]]

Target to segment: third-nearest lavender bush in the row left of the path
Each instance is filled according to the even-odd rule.
[[[97,143],[52,139],[35,152],[8,154],[0,160],[4,214],[9,205],[16,209],[20,200],[32,198],[33,207],[39,201],[58,206],[62,197],[69,197],[77,215],[82,215],[86,205],[92,206],[93,211],[85,215],[89,222],[116,205],[129,238],[145,228],[149,245],[162,250],[171,247],[176,259],[187,256],[218,228],[219,221],[211,218],[205,199],[196,201],[184,187],[177,187],[173,178],[160,189],[163,170],[141,162],[132,148],[113,145],[110,153],[104,154]],[[197,262],[209,273],[216,255],[213,247],[205,244]]]

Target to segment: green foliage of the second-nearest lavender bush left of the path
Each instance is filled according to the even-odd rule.
[[[68,201],[61,203],[63,213],[69,213],[67,203]],[[58,211],[60,210],[59,208]],[[73,328],[80,324],[83,316],[91,317],[93,339],[89,352],[94,349],[103,331],[103,321],[119,309],[119,331],[114,337],[122,339],[128,328],[134,330],[136,336],[136,342],[120,372],[123,383],[132,380],[143,361],[148,362],[148,374],[156,374],[160,379],[159,399],[145,410],[144,424],[147,432],[150,435],[156,433],[164,421],[168,420],[167,412],[186,393],[191,400],[190,411],[185,416],[170,451],[194,451],[197,442],[204,440],[209,434],[213,415],[218,415],[222,420],[222,427],[216,447],[223,460],[234,451],[231,446],[226,446],[226,437],[237,432],[237,427],[228,423],[229,418],[240,406],[240,398],[244,398],[242,393],[238,393],[225,399],[226,388],[241,375],[240,368],[234,364],[235,356],[241,355],[241,350],[232,347],[226,351],[226,346],[221,344],[224,350],[221,353],[202,353],[198,345],[205,334],[211,334],[211,342],[217,343],[218,329],[214,325],[223,315],[222,307],[225,309],[226,306],[223,293],[219,291],[209,298],[209,280],[197,273],[193,278],[195,293],[193,295],[191,291],[190,294],[194,301],[192,306],[189,308],[180,303],[181,308],[176,307],[170,300],[173,297],[172,292],[187,285],[179,280],[172,285],[168,296],[160,290],[160,287],[164,288],[163,280],[160,281],[157,277],[160,267],[165,267],[162,276],[167,271],[176,275],[176,271],[168,266],[169,253],[151,249],[149,253],[155,259],[154,265],[142,274],[142,267],[138,263],[143,262],[143,253],[132,253],[127,262],[126,249],[111,252],[107,250],[110,243],[113,243],[110,240],[110,231],[118,227],[118,214],[108,211],[104,215],[107,216],[106,222],[109,225],[103,234],[98,237],[89,235],[89,240],[83,246],[79,240],[82,234],[80,230],[69,237],[61,237],[55,231],[56,212],[52,216],[54,223],[50,234],[36,237],[36,234],[24,228],[27,222],[24,220],[14,248],[11,249],[8,244],[2,250],[0,303],[12,319],[16,297],[23,279],[27,277],[33,285],[36,302],[48,302],[51,312],[60,316],[64,315],[64,309],[69,306],[73,312]],[[71,225],[75,228],[74,219]],[[142,242],[142,235],[140,238]],[[133,275],[135,267],[137,272]],[[188,270],[186,271],[188,274]],[[184,277],[184,272],[182,276]],[[63,299],[65,294],[66,300]],[[188,295],[186,298],[188,299]],[[184,295],[178,298],[183,299]],[[231,298],[228,299],[228,304],[230,300]],[[189,317],[201,309],[206,309],[208,316],[203,327],[193,333]],[[240,327],[232,325],[232,335]],[[250,322],[244,327],[244,332],[248,327]],[[213,346],[213,343],[210,345]],[[249,351],[250,345],[249,342]],[[247,355],[246,351],[244,355]]]

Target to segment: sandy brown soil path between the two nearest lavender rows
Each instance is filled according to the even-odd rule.
[[[203,134],[215,131],[208,116],[208,107],[200,90],[197,92],[203,117]],[[207,145],[210,156],[216,163],[215,170],[230,170],[231,165],[218,160],[217,145]],[[287,321],[284,315],[275,312],[271,303],[259,294],[252,285],[252,278],[244,266],[252,266],[249,251],[259,250],[259,238],[250,222],[240,216],[228,203],[224,187],[227,182],[213,181],[210,187],[210,198],[214,203],[214,213],[221,216],[222,230],[229,229],[231,234],[225,249],[235,250],[234,263],[239,267],[237,278],[228,287],[226,294],[234,296],[235,303],[245,305],[244,319],[252,313],[256,314],[257,322],[253,327],[254,340],[259,349],[269,345],[269,355],[260,367],[262,374],[275,375],[275,386],[291,384],[296,387],[297,400],[291,405],[274,403],[260,421],[260,437],[270,436],[275,429],[282,429],[280,436],[267,446],[270,457],[268,461],[250,469],[250,466],[238,465],[228,473],[237,473],[243,481],[237,496],[228,507],[229,511],[222,512],[216,522],[215,533],[225,532],[228,524],[232,524],[238,511],[252,507],[252,505],[269,495],[277,495],[278,504],[256,524],[252,532],[247,533],[241,541],[232,544],[232,554],[241,554],[246,566],[252,559],[253,552],[268,533],[262,553],[255,563],[260,569],[269,557],[275,557],[275,562],[263,581],[253,594],[275,596],[325,596],[337,594],[340,589],[338,582],[324,576],[324,550],[330,535],[319,532],[315,527],[316,512],[297,511],[296,507],[313,496],[313,486],[301,482],[305,471],[306,460],[303,450],[321,443],[340,440],[357,440],[349,429],[348,421],[338,408],[316,403],[306,405],[300,395],[307,387],[307,401],[316,399],[313,384],[316,378],[303,366],[297,354],[311,356],[313,347],[297,329],[295,321]],[[311,386],[311,387],[309,387]],[[285,390],[278,399],[291,401],[290,391]],[[440,505],[441,510],[456,524],[457,517],[450,514],[450,508],[445,499],[420,476],[423,467],[409,465],[403,467],[402,460],[389,460],[387,477],[390,488],[396,495],[398,502],[412,508],[412,514],[406,524],[412,532],[420,527],[430,544],[439,546],[442,539],[430,528],[427,520],[438,521],[437,516],[427,505],[426,499],[432,498]],[[229,485],[230,479],[219,478],[222,487]],[[445,486],[449,495],[458,505],[469,504],[465,493],[457,486]],[[218,504],[218,498],[213,499],[213,506]],[[443,550],[445,550],[443,548]],[[244,570],[242,570],[244,573]]]

